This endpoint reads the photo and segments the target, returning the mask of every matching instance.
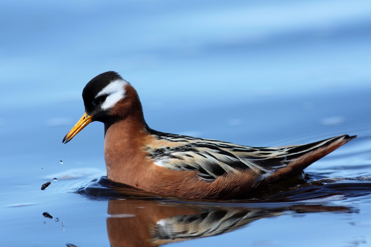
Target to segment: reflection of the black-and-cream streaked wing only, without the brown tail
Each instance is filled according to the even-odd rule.
[[[179,215],[157,221],[153,236],[158,239],[207,237],[235,230],[253,220],[280,215],[267,210],[211,210],[199,215]]]

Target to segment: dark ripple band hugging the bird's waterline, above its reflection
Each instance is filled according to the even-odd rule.
[[[299,183],[295,186],[289,184]],[[293,179],[272,184],[249,194],[245,198],[228,201],[189,200],[167,197],[139,190],[137,188],[112,182],[106,177],[96,178],[78,188],[75,193],[92,200],[135,199],[187,203],[221,203],[249,204],[252,203],[324,203],[329,201],[350,199],[371,194],[371,177],[354,178],[322,178],[314,181]]]

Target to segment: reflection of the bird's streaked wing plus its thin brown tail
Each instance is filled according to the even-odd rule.
[[[282,215],[285,211],[297,213],[311,212],[350,212],[351,209],[341,206],[293,205],[288,207],[259,208],[219,208],[206,207],[197,214],[175,215],[157,221],[152,230],[152,241],[170,243],[199,237],[209,237],[236,230],[252,221],[261,218]],[[168,240],[161,242],[161,240]],[[170,241],[169,241],[170,240]],[[157,246],[157,245],[156,245]]]

